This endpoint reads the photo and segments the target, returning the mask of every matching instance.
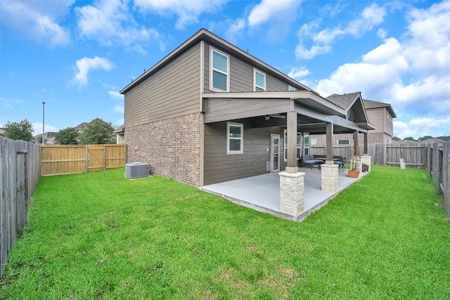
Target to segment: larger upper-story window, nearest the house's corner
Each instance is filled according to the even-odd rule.
[[[230,58],[217,50],[211,49],[210,89],[217,92],[229,92]]]

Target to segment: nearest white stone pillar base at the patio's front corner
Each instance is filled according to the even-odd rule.
[[[290,215],[300,215],[304,210],[304,173],[280,175],[280,211]]]

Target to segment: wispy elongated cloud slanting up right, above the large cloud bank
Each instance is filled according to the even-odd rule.
[[[300,42],[295,49],[295,54],[300,59],[311,59],[320,54],[330,52],[330,44],[335,39],[344,35],[361,37],[365,32],[373,30],[373,27],[383,23],[385,15],[385,8],[371,4],[371,6],[364,8],[360,18],[352,20],[343,29],[341,25],[338,25],[334,28],[326,28],[316,32],[316,28],[319,27],[319,21],[304,24],[298,32]],[[379,34],[383,35],[383,32],[379,32]],[[313,44],[307,47],[305,46],[305,42],[309,39],[311,39]]]

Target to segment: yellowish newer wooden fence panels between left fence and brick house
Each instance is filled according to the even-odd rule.
[[[41,176],[122,168],[125,163],[127,144],[41,146]]]

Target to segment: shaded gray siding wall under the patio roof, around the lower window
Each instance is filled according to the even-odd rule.
[[[226,122],[205,124],[204,132],[205,185],[269,173],[266,171],[266,161],[270,161],[270,151],[267,151],[271,146],[270,135],[278,134],[283,139],[283,128],[249,128],[248,123],[244,123],[244,153],[227,155]],[[283,170],[282,151],[280,156]]]

